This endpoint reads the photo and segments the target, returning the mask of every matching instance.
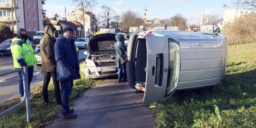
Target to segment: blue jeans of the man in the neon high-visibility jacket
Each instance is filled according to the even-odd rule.
[[[20,69],[23,70],[23,68],[20,68]],[[28,91],[30,91],[30,83],[33,79],[33,72],[34,72],[34,66],[30,66],[28,68]],[[21,72],[19,72],[19,94],[20,94],[20,97],[24,96],[23,77]]]

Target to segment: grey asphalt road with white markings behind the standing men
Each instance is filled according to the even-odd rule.
[[[33,47],[35,45],[32,43]],[[88,51],[86,49],[79,49],[79,60],[80,62],[85,60],[87,55],[84,55],[84,52]],[[13,58],[12,55],[1,55],[0,56],[0,73],[10,71],[15,69],[13,67]],[[42,67],[34,65],[34,76],[31,82],[30,88],[37,87],[43,81],[44,73]],[[12,98],[15,95],[19,94],[19,76],[18,73],[13,73],[0,77],[0,104],[5,100]]]

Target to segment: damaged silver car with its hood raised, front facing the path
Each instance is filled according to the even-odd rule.
[[[115,59],[115,33],[103,33],[94,35],[89,39],[89,53],[83,72],[87,77],[100,78],[117,76]]]

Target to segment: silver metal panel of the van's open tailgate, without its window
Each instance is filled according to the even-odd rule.
[[[146,34],[147,65],[143,105],[165,100],[169,70],[169,46],[166,36]]]

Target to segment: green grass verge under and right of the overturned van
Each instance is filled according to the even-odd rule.
[[[229,46],[224,80],[214,87],[175,92],[149,108],[157,127],[255,128],[256,44]]]

